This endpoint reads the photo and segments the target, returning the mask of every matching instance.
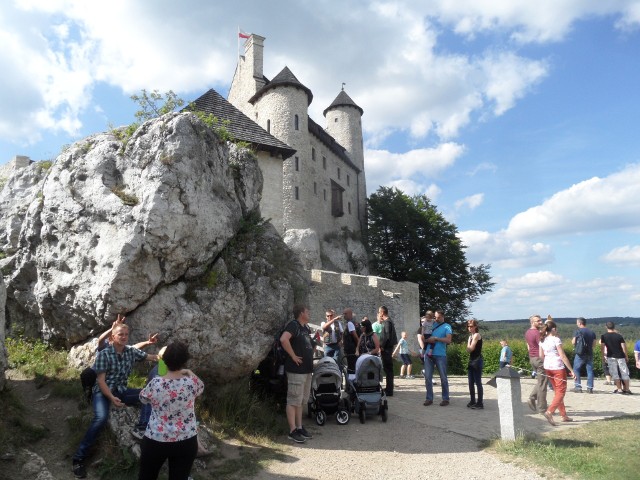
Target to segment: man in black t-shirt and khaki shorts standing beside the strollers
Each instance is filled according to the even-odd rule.
[[[293,316],[280,337],[280,344],[287,358],[284,369],[287,372],[287,422],[289,439],[304,443],[311,434],[302,426],[302,409],[311,392],[313,372],[313,343],[309,323],[309,309],[304,305],[293,306]]]

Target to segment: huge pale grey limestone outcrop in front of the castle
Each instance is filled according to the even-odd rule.
[[[117,132],[77,142],[25,199],[5,259],[11,330],[72,345],[124,313],[131,343],[159,332],[216,379],[248,373],[305,291],[261,189],[250,152],[193,114],[145,122],[126,147]]]

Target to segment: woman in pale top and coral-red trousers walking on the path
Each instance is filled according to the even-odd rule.
[[[567,354],[562,349],[562,340],[558,337],[556,324],[553,320],[547,320],[541,332],[542,341],[540,342],[540,356],[544,362],[544,370],[549,377],[549,382],[553,385],[554,395],[551,404],[544,412],[547,421],[555,426],[553,413],[558,409],[563,422],[572,422],[573,420],[567,416],[567,410],[564,407],[564,395],[567,392],[567,370],[573,377],[573,369],[567,358]]]

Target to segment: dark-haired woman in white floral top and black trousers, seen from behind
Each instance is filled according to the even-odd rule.
[[[150,403],[152,412],[141,443],[138,479],[157,479],[168,459],[169,480],[187,480],[198,452],[194,403],[204,385],[191,370],[184,369],[189,360],[186,344],[171,343],[162,360],[167,374],[153,378],[140,392],[140,401]]]

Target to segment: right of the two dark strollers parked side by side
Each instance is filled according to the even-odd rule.
[[[380,385],[382,361],[374,355],[360,355],[356,373],[347,377],[347,391],[353,410],[364,423],[367,416],[380,415],[387,421],[387,396]]]

